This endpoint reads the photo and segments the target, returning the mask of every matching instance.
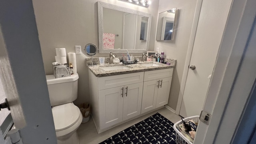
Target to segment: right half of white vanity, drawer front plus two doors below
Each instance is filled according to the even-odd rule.
[[[154,110],[168,103],[173,68],[144,73],[141,113]]]

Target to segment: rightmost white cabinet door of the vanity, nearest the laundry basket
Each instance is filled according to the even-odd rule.
[[[172,77],[160,79],[160,84],[157,92],[156,108],[164,106],[168,103]]]

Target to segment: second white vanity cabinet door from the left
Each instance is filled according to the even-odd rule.
[[[138,116],[141,111],[143,82],[124,86],[123,120]]]

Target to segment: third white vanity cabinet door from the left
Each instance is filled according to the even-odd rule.
[[[150,80],[143,84],[141,113],[156,108],[156,96],[158,91],[158,80]]]

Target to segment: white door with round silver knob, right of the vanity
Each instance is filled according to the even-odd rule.
[[[180,116],[200,115],[232,0],[215,2],[205,0],[196,30],[186,86],[180,107]],[[220,8],[221,7],[221,8]],[[218,12],[216,12],[216,8]]]

